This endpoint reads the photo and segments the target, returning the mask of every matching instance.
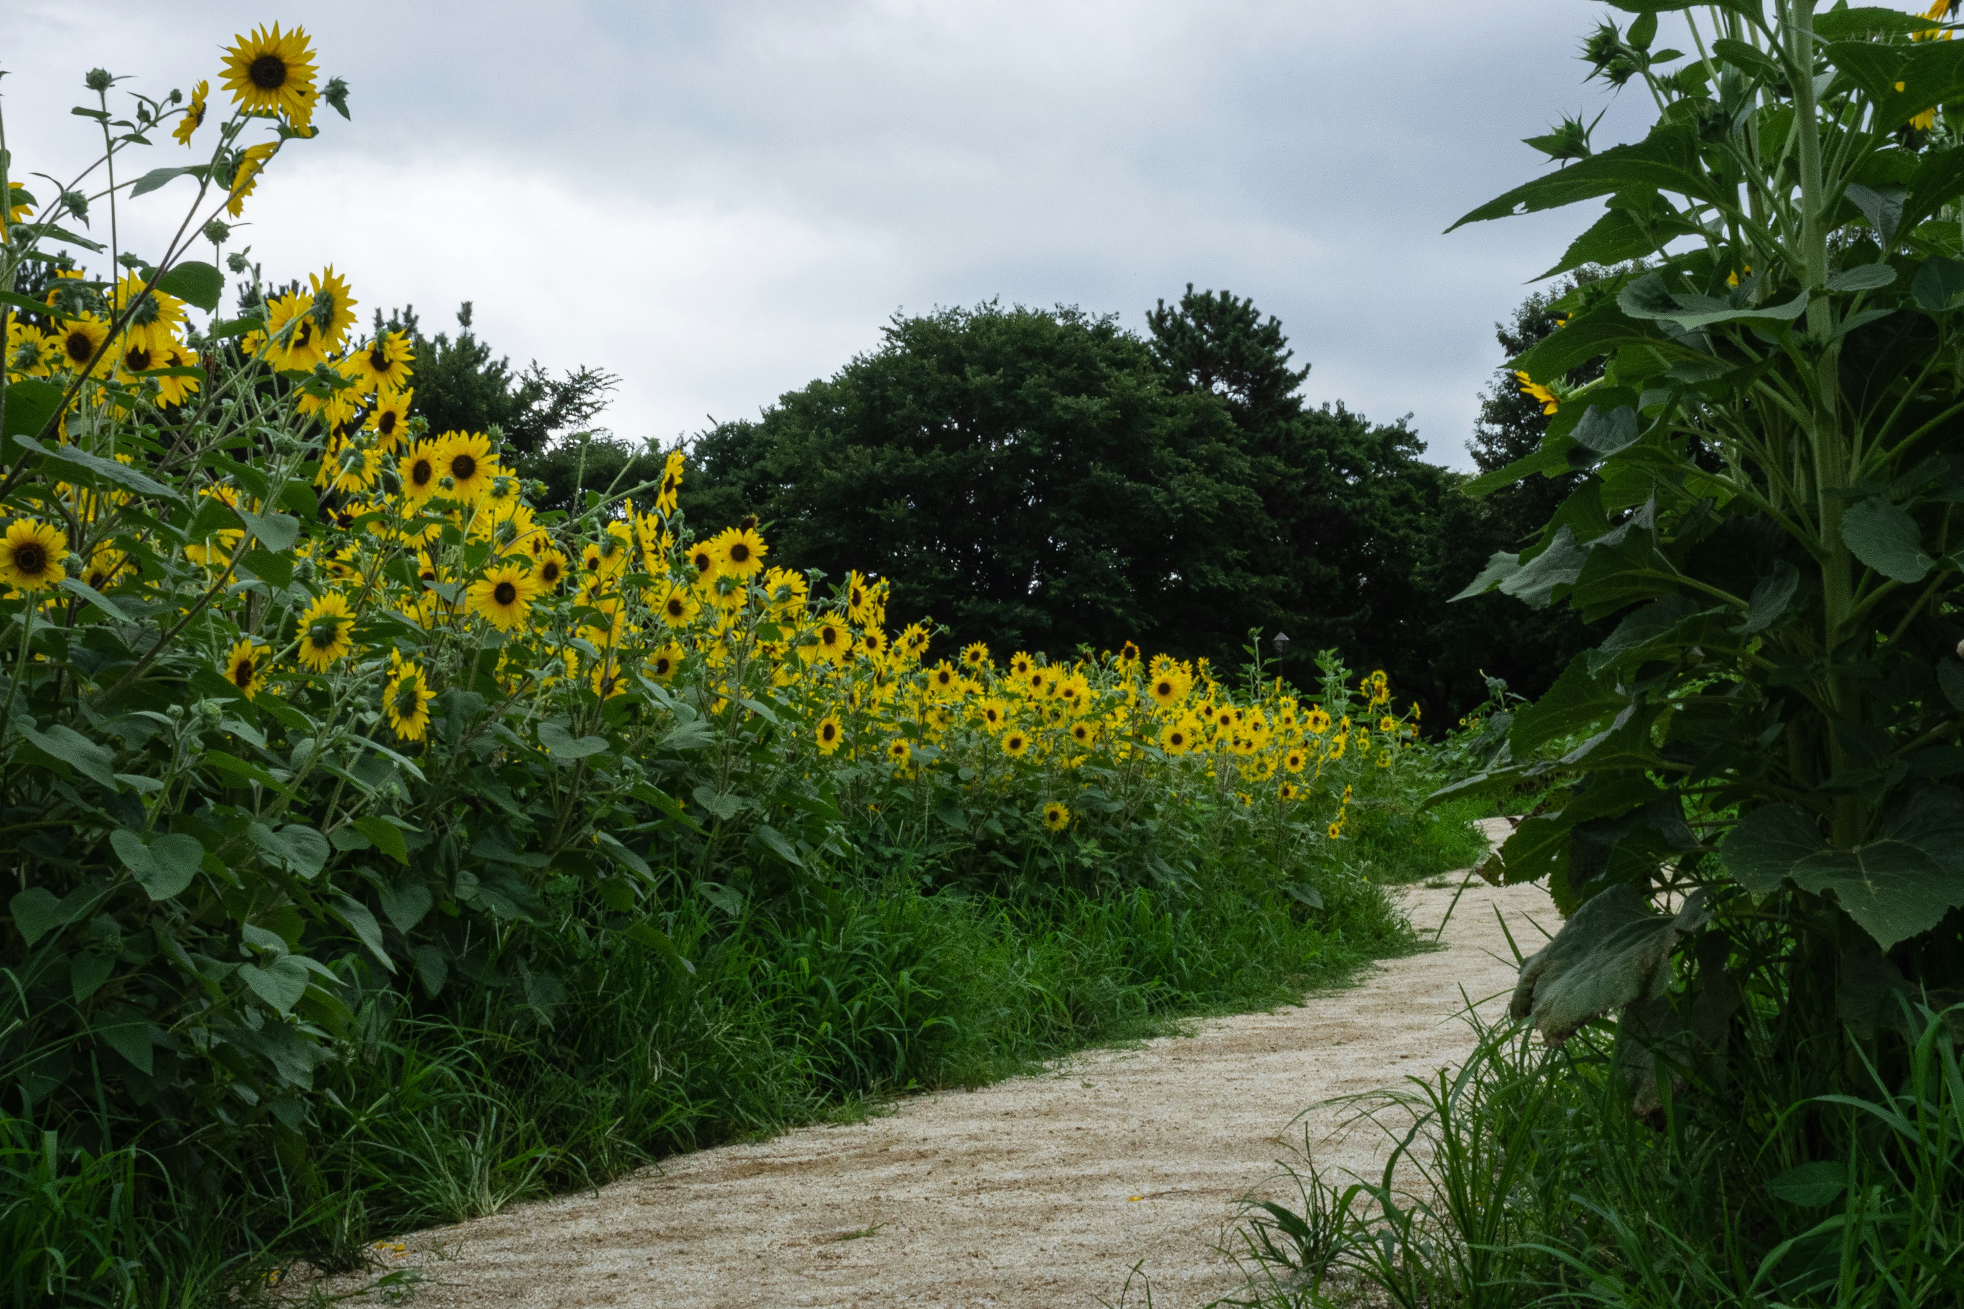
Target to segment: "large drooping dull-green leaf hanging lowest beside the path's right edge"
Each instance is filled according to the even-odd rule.
[[[1536,1030],[1550,1044],[1561,1044],[1591,1019],[1664,995],[1671,948],[1707,916],[1703,893],[1665,916],[1634,887],[1609,887],[1520,966],[1506,1013],[1512,1019],[1532,1015]]]

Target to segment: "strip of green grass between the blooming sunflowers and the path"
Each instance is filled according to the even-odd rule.
[[[740,915],[678,877],[666,930],[693,971],[570,918],[554,987],[465,1009],[355,977],[342,1058],[302,1132],[169,1168],[92,1160],[0,1117],[8,1305],[234,1303],[275,1270],[668,1154],[878,1113],[1204,1013],[1296,1003],[1414,948],[1389,887],[1463,867],[1463,814],[1353,812],[1322,909],[1222,873],[1173,891],[937,887],[917,862],[813,881]],[[361,989],[367,983],[371,989]],[[526,995],[554,995],[534,1007]],[[517,1003],[515,1003],[517,1001]],[[194,1178],[194,1193],[159,1178]]]

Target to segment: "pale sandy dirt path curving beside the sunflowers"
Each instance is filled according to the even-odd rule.
[[[1408,895],[1430,932],[1453,893]],[[1461,991],[1504,997],[1514,979],[1495,909],[1530,950],[1528,918],[1555,924],[1538,887],[1475,883],[1446,950],[1300,1009],[1210,1019],[1190,1036],[422,1232],[403,1256],[428,1276],[414,1303],[1090,1309],[1116,1303],[1143,1264],[1159,1309],[1202,1305],[1235,1285],[1214,1246],[1235,1201],[1300,1148],[1304,1109],[1430,1073],[1469,1046],[1453,1019]],[[1304,1119],[1312,1140],[1337,1121],[1328,1109]],[[1375,1146],[1357,1134],[1318,1146],[1318,1160],[1369,1170]]]

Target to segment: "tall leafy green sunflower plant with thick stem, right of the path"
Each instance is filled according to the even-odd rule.
[[[1471,487],[1579,489],[1463,595],[1609,636],[1453,791],[1546,789],[1485,865],[1567,915],[1514,1013],[1620,1017],[1656,1107],[1752,993],[1830,1064],[1964,997],[1964,43],[1956,0],[1614,8],[1585,61],[1648,133],[1563,122],[1455,224],[1595,210],[1544,277],[1601,277],[1514,361],[1548,436]]]

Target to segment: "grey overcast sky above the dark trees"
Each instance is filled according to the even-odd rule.
[[[1442,232],[1542,167],[1520,137],[1610,104],[1573,57],[1601,14],[1579,0],[8,10],[16,177],[84,157],[86,69],[189,90],[234,31],[302,22],[354,122],[322,108],[236,239],[269,275],[334,263],[363,316],[454,328],[473,300],[517,363],[619,373],[601,422],[664,442],[831,375],[896,312],[1143,328],[1194,283],[1282,320],[1310,400],[1410,412],[1467,467],[1493,324],[1593,212]],[[1642,110],[1612,104],[1599,143]]]

